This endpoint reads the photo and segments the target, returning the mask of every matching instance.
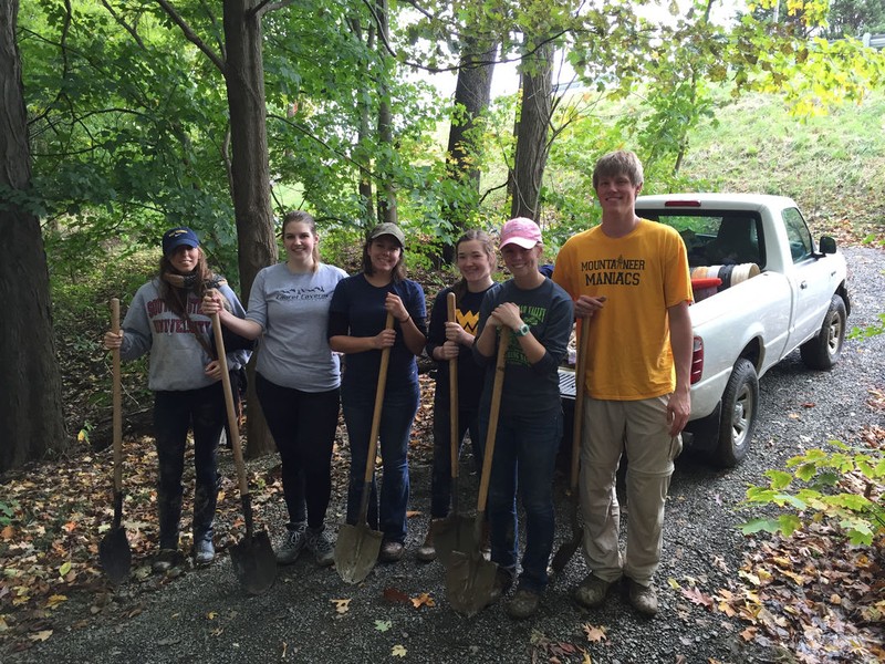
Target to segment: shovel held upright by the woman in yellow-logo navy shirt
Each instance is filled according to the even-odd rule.
[[[448,319],[450,323],[457,322],[455,317],[455,293],[448,295]],[[452,551],[470,551],[473,542],[470,536],[473,532],[473,522],[465,517],[458,509],[458,450],[460,448],[460,428],[458,426],[458,357],[449,360],[449,427],[450,455],[451,455],[451,513],[445,519],[439,519],[430,525],[434,531],[434,544],[439,561],[448,567]]]

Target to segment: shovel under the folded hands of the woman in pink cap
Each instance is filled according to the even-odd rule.
[[[498,359],[494,365],[494,385],[491,393],[489,430],[486,436],[486,450],[482,455],[482,476],[479,481],[477,516],[473,519],[470,550],[452,551],[450,564],[446,571],[446,594],[449,603],[455,611],[467,618],[476,615],[488,605],[498,571],[498,566],[482,556],[479,542],[482,540],[482,522],[486,520],[486,498],[489,494],[494,438],[498,435],[498,414],[501,409],[501,387],[504,382],[504,355],[509,342],[510,329],[501,328]]]

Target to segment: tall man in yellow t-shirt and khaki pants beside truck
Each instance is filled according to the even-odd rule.
[[[690,412],[691,280],[679,235],[636,216],[643,167],[635,154],[603,156],[593,187],[602,224],[570,238],[553,270],[575,301],[575,317],[590,325],[581,510],[591,573],[575,599],[598,606],[626,577],[631,603],[654,615],[664,502]],[[623,556],[615,494],[622,453],[629,506]]]

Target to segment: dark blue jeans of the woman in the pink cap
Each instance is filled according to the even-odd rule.
[[[489,413],[479,416],[488,432]],[[487,512],[491,560],[516,569],[519,556],[517,489],[525,510],[525,552],[519,587],[532,592],[546,588],[546,568],[553,550],[553,470],[562,438],[562,409],[543,413],[507,413],[498,422],[492,454]],[[486,440],[483,437],[483,454]]]

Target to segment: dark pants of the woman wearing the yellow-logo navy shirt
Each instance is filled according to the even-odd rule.
[[[482,453],[479,446],[479,411],[476,408],[458,409],[458,450],[460,453],[464,436],[470,432],[473,448],[473,463],[482,465]],[[460,498],[460,496],[458,497]],[[451,504],[451,419],[448,404],[434,403],[434,470],[430,476],[430,518],[441,519],[449,513]]]

